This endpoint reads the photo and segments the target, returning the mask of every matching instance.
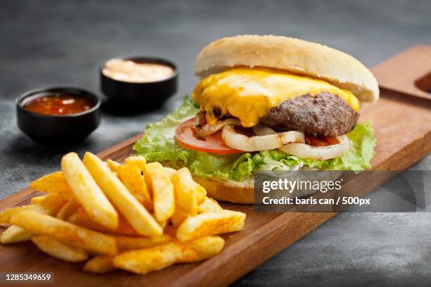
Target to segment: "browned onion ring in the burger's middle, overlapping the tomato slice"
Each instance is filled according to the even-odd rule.
[[[240,151],[268,151],[290,143],[305,142],[303,132],[280,132],[263,136],[245,136],[235,131],[234,125],[225,125],[222,131],[226,146]]]

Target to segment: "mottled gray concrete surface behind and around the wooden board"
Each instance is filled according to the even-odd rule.
[[[430,15],[430,1],[3,0],[0,197],[58,170],[67,151],[102,151],[164,117],[193,89],[194,57],[213,39],[288,35],[334,46],[373,66],[408,46],[431,44]],[[177,63],[180,89],[163,108],[145,115],[105,112],[99,129],[73,148],[39,146],[18,130],[13,100],[20,93],[68,85],[100,94],[98,65],[125,54]],[[431,157],[414,168],[431,170]],[[344,213],[234,285],[430,286],[430,238],[429,213]]]

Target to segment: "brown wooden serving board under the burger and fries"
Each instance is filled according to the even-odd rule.
[[[430,47],[427,49],[431,57]],[[419,63],[422,56],[416,57],[411,50],[407,56],[407,59],[402,56],[402,61],[415,62],[413,66],[423,73],[424,68]],[[385,63],[377,66],[377,78],[385,79],[385,89],[380,101],[361,112],[361,121],[373,121],[377,137],[373,170],[404,170],[431,151],[431,101],[425,96],[407,96],[404,91],[390,89],[391,84],[399,83],[402,75],[415,75],[415,79],[423,75],[415,74],[416,70],[399,70],[402,75],[391,82],[386,75],[392,75],[392,67],[393,64],[385,68]],[[99,155],[122,161],[132,153],[132,144],[139,137]],[[358,190],[368,193],[386,180],[383,177],[362,178]],[[1,200],[0,210],[27,204],[38,194],[30,189],[19,191]],[[246,213],[244,230],[227,234],[223,252],[205,262],[178,264],[144,276],[122,271],[95,275],[80,271],[82,264],[61,262],[31,243],[18,243],[0,246],[0,272],[54,272],[56,286],[225,286],[337,215],[335,212],[258,213],[252,205],[226,204],[225,207]]]

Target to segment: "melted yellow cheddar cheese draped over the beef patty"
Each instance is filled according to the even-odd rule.
[[[316,96],[328,91],[343,98],[354,110],[359,101],[354,94],[321,79],[268,68],[231,68],[202,79],[192,98],[206,111],[206,121],[214,125],[220,116],[237,117],[244,127],[258,124],[270,108],[296,96]]]

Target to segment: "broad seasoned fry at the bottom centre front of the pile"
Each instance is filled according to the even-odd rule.
[[[175,263],[181,248],[178,243],[165,243],[154,247],[132,250],[115,256],[114,266],[137,274],[146,274]]]

